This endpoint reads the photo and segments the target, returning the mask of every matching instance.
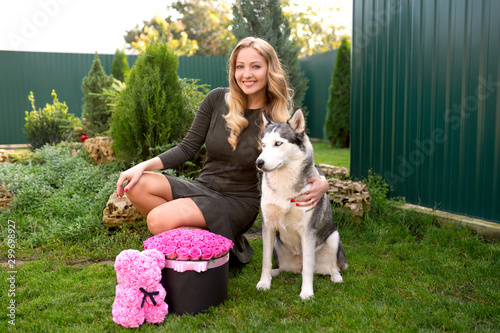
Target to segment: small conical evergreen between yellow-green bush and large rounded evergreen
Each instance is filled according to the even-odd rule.
[[[113,79],[104,72],[96,52],[92,68],[82,81],[84,95],[82,118],[84,118],[85,130],[91,136],[102,134],[109,129],[111,107],[101,97],[101,94],[112,84]]]

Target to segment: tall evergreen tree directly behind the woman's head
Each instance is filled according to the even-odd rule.
[[[233,6],[233,34],[237,40],[254,36],[271,44],[288,73],[295,106],[301,106],[308,80],[300,68],[300,48],[290,40],[290,23],[279,0],[237,0]]]

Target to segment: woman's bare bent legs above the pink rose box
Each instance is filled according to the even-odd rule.
[[[145,172],[127,192],[127,197],[147,216],[153,235],[182,227],[207,229],[205,217],[192,199],[173,200],[170,182],[162,174]]]

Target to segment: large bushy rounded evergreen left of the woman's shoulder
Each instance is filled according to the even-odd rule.
[[[148,45],[135,62],[111,120],[118,157],[127,162],[146,160],[156,147],[185,135],[194,114],[184,107],[178,64],[168,45],[157,42]]]

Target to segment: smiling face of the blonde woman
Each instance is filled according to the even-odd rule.
[[[266,102],[267,61],[252,47],[240,50],[236,57],[234,78],[248,96],[249,109],[261,108]]]

